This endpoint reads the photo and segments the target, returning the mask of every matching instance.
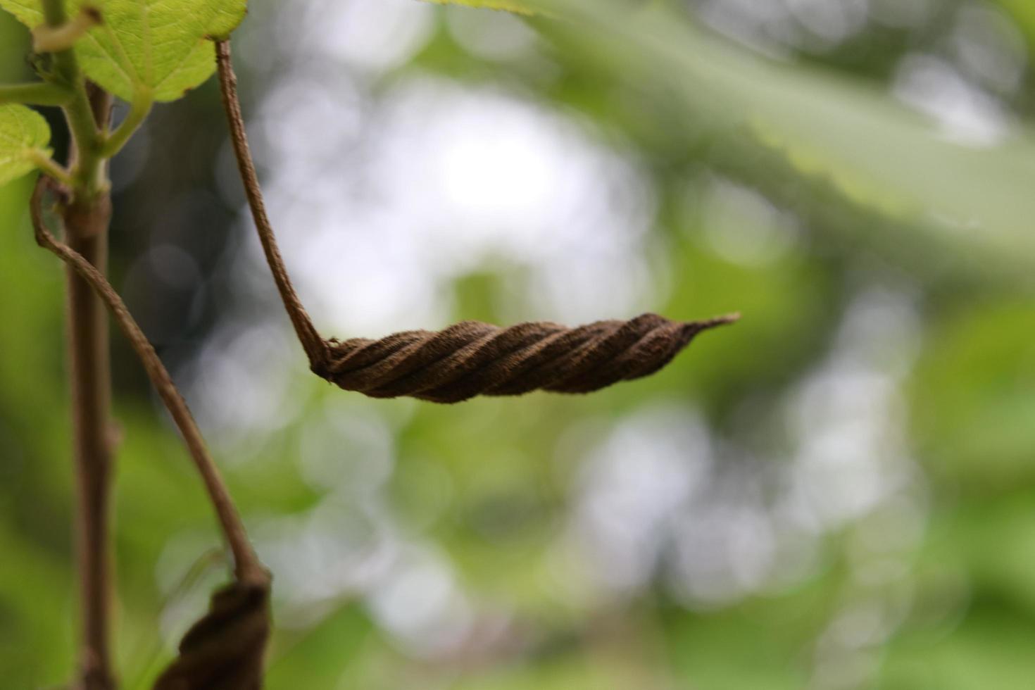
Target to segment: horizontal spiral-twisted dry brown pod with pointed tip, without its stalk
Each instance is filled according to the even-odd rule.
[[[371,397],[460,402],[533,390],[589,393],[658,370],[701,331],[736,316],[678,323],[645,313],[579,328],[549,322],[499,328],[465,321],[439,331],[331,343],[317,373]]]

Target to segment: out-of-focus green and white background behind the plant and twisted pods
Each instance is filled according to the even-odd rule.
[[[253,146],[326,335],[743,313],[651,379],[455,407],[331,389],[214,85],[114,163],[113,281],[275,575],[269,687],[1032,687],[1035,4],[556,5],[253,0]],[[0,78],[27,53],[0,19]],[[62,274],[28,185],[0,189],[4,688],[73,656]],[[226,570],[113,351],[143,688]]]

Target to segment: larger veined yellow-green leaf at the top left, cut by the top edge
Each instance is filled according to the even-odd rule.
[[[124,100],[176,100],[215,69],[211,38],[244,19],[247,0],[67,0],[68,13],[98,9],[102,23],[76,46],[83,71]],[[0,0],[30,28],[43,23],[37,0]]]

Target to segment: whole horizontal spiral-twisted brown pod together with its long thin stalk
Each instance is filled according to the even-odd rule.
[[[237,167],[259,240],[280,299],[315,373],[371,397],[412,396],[460,402],[475,395],[522,395],[533,390],[589,393],[657,371],[698,333],[731,324],[738,314],[674,322],[646,313],[579,328],[526,323],[500,328],[466,321],[440,332],[406,331],[380,340],[324,340],[291,284],[244,130],[230,43],[216,42],[219,89]]]

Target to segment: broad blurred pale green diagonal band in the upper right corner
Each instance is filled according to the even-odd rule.
[[[1031,130],[965,145],[890,93],[737,50],[657,3],[634,11],[614,0],[550,6],[571,20],[551,30],[638,89],[652,85],[652,97],[683,110],[687,127],[780,152],[803,178],[897,219],[898,232],[921,229],[927,240],[977,252],[974,261],[1035,264]],[[778,197],[782,180],[763,183]]]

